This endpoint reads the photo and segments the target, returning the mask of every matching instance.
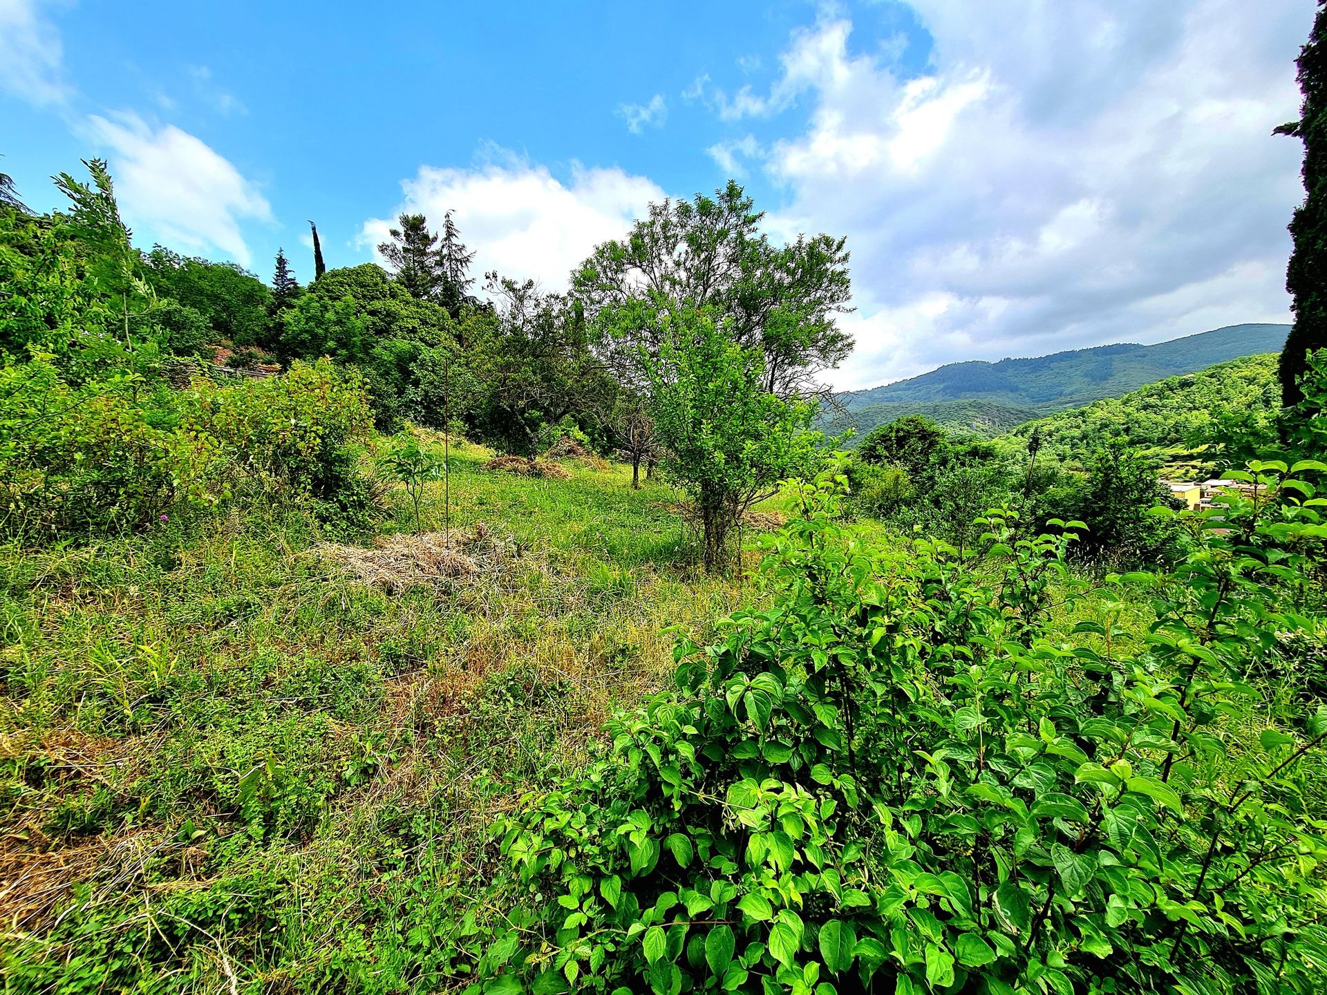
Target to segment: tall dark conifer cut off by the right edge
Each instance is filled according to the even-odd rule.
[[[1295,248],[1286,269],[1295,324],[1278,369],[1282,403],[1287,407],[1303,399],[1296,381],[1306,369],[1306,354],[1327,349],[1327,0],[1318,0],[1314,28],[1296,64],[1304,94],[1299,121],[1277,129],[1278,134],[1304,142],[1306,196],[1290,222]]]

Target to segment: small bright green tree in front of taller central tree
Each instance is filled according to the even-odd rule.
[[[742,515],[780,480],[809,476],[823,452],[811,431],[815,405],[767,389],[758,346],[743,346],[707,310],[661,312],[650,361],[654,431],[664,468],[695,504],[706,569],[729,557]]]

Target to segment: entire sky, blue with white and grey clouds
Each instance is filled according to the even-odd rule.
[[[104,155],[143,245],[269,276],[454,210],[560,288],[650,200],[736,175],[848,237],[843,387],[1285,320],[1311,0],[0,0],[0,170]]]

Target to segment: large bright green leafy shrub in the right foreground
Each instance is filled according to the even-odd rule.
[[[1151,592],[1140,637],[1117,606],[1068,642],[1076,523],[889,552],[803,487],[772,608],[683,645],[674,693],[502,824],[518,907],[471,991],[1312,991],[1327,714],[1249,716],[1323,635],[1323,470],[1251,464],[1180,515],[1173,573],[1113,578]]]

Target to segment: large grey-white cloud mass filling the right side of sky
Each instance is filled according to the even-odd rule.
[[[784,190],[776,231],[848,236],[840,386],[1286,320],[1302,147],[1270,133],[1296,117],[1311,4],[909,3],[921,76],[824,17],[766,90],[690,92],[723,119],[805,109],[755,154]]]

